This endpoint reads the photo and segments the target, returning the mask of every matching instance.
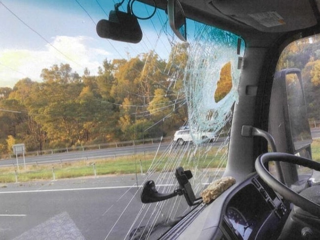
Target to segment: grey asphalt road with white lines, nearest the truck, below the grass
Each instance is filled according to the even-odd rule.
[[[0,239],[124,239],[141,209],[139,195],[122,227],[108,233],[136,192],[132,175],[7,184],[0,189]]]

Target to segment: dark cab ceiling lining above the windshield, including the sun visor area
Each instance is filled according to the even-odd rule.
[[[153,5],[153,0],[139,1]],[[156,1],[159,8],[166,8],[167,0]],[[296,39],[318,33],[320,29],[320,0],[180,2],[187,18],[238,34],[245,39],[247,47],[270,47],[277,39]]]

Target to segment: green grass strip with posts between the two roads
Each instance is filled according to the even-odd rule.
[[[197,159],[197,168],[221,167],[221,155],[217,153],[218,148],[213,147],[209,151],[200,150],[197,156],[184,156],[180,159],[181,166],[185,169],[191,168],[194,158]],[[224,152],[224,151],[222,151]],[[32,180],[57,180],[77,178],[85,176],[111,175],[111,174],[132,174],[146,173],[152,165],[155,153],[136,154],[122,157],[97,158],[78,161],[57,161],[54,164],[32,164],[0,168],[0,182],[25,182]],[[172,157],[157,159],[153,171],[160,171],[165,168],[168,171],[174,170],[176,160]],[[225,167],[225,166],[223,166]]]

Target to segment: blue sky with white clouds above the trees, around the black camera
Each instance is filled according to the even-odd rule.
[[[169,55],[167,36],[161,29],[167,17],[158,10],[150,20],[138,20],[140,43],[100,38],[96,23],[108,20],[118,0],[0,0],[0,87],[13,88],[23,78],[41,82],[43,68],[70,64],[80,76],[85,68],[97,73],[102,61],[128,59],[154,49],[161,59]],[[128,1],[119,10],[126,11]],[[134,3],[135,15],[153,11]],[[157,31],[156,31],[156,30]],[[160,36],[160,37],[159,37]]]

